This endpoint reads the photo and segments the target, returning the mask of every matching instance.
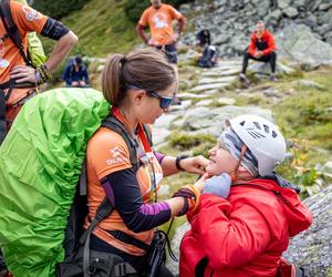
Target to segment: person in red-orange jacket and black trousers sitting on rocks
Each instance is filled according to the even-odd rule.
[[[278,81],[276,78],[276,42],[273,35],[266,30],[263,21],[258,21],[256,24],[256,31],[251,34],[250,44],[248,51],[243,57],[242,71],[239,75],[240,80],[246,81],[246,70],[248,66],[249,59],[259,62],[269,62],[271,65],[271,81]]]

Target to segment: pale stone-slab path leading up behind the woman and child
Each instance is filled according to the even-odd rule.
[[[217,105],[234,105],[235,99],[231,98],[214,98],[214,94],[218,91],[228,88],[238,78],[238,73],[241,69],[240,60],[220,60],[215,68],[195,70],[195,76],[198,79],[196,85],[189,88],[185,91],[178,93],[178,98],[181,100],[180,105],[173,105],[168,114],[160,116],[154,124],[153,135],[154,143],[156,146],[162,146],[165,144],[166,137],[172,133],[169,130],[173,125],[174,127],[181,129],[181,124],[193,124],[188,117],[195,119],[195,113],[201,112],[195,109],[210,106],[211,104]],[[194,103],[194,104],[193,104]],[[214,110],[214,109],[207,109]],[[194,113],[194,115],[193,115]],[[210,116],[215,116],[216,113],[204,113],[207,119],[200,119],[203,124],[210,124],[212,122]],[[195,120],[194,120],[195,121]],[[205,125],[206,126],[206,125]],[[219,131],[218,127],[205,129],[201,126],[201,132],[216,133]],[[200,132],[197,131],[197,132]],[[196,131],[195,131],[196,132]]]

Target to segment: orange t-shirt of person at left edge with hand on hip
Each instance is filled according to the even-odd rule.
[[[48,17],[33,10],[29,6],[21,4],[17,1],[10,1],[10,9],[13,22],[17,24],[22,39],[22,44],[27,52],[28,32],[41,33]],[[9,38],[4,38],[7,31],[0,20],[0,83],[4,83],[10,78],[10,71],[15,65],[25,65],[19,49]],[[8,104],[15,103],[27,95],[27,89],[13,89]]]

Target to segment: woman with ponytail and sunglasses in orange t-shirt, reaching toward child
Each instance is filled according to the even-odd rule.
[[[103,93],[117,119],[136,144],[139,166],[132,166],[129,150],[123,137],[101,127],[89,141],[86,152],[90,218],[104,197],[115,211],[93,232],[91,248],[114,253],[142,274],[146,252],[155,227],[195,207],[199,192],[195,186],[179,189],[175,197],[156,202],[163,176],[179,171],[203,174],[203,156],[178,158],[153,152],[143,124],[167,112],[177,76],[162,52],[138,50],[124,57],[113,54],[103,71]],[[86,222],[86,226],[89,222]],[[157,276],[173,276],[160,267]]]

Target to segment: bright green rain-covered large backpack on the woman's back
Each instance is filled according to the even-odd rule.
[[[68,88],[31,99],[17,116],[0,146],[0,246],[15,277],[54,276],[63,261],[86,143],[108,114],[101,92]]]

